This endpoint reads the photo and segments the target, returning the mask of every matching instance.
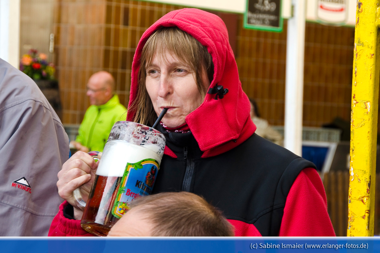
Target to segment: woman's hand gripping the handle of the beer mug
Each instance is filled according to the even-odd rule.
[[[73,196],[75,189],[80,187],[80,193],[86,202],[95,178],[98,163],[90,154],[78,151],[62,165],[58,173],[58,193],[74,207],[74,218],[80,220],[83,207]]]

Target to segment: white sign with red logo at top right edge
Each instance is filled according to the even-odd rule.
[[[342,25],[347,22],[347,0],[318,0],[317,20]]]

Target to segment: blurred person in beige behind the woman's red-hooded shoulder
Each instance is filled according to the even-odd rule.
[[[283,146],[282,135],[269,126],[267,120],[260,118],[256,101],[249,98],[249,102],[251,103],[251,119],[257,127],[255,133],[263,138],[266,138],[267,140],[272,141],[273,143],[276,143],[277,145]]]

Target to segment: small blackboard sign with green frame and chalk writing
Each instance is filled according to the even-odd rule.
[[[281,0],[247,0],[244,28],[282,31]]]

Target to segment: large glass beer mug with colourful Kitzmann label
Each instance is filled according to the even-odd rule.
[[[106,236],[136,197],[152,192],[165,148],[165,136],[142,124],[118,121],[103,150],[84,208],[84,230]],[[74,197],[79,204],[84,201]]]

